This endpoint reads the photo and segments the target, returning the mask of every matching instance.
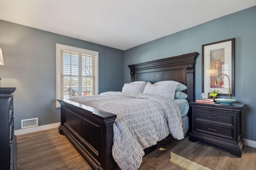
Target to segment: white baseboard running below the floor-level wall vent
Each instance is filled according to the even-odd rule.
[[[14,134],[15,135],[22,135],[22,134],[25,134],[25,133],[42,131],[42,130],[46,130],[46,129],[52,129],[52,128],[58,127],[59,125],[60,125],[60,122],[59,123],[52,123],[52,124],[49,124],[49,125],[30,127],[30,128],[26,128],[26,129],[19,129],[19,130],[15,130]]]

